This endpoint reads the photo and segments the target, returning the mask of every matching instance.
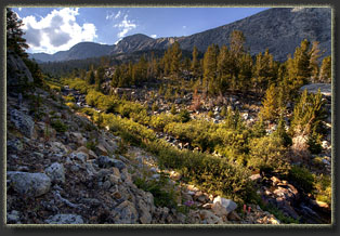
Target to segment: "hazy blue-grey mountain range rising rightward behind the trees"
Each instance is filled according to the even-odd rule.
[[[241,30],[246,37],[246,47],[252,55],[269,49],[277,61],[287,60],[303,39],[318,41],[324,55],[331,51],[331,10],[330,8],[274,8],[244,19],[223,25],[186,37],[167,37],[153,39],[138,34],[128,36],[116,45],[81,42],[70,50],[49,55],[30,54],[31,57],[47,61],[66,61],[102,56],[118,53],[132,53],[145,50],[164,50],[179,41],[183,50],[193,50],[194,45],[206,51],[209,44],[228,44],[233,30]]]

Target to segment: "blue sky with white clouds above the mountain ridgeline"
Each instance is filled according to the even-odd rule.
[[[29,53],[55,53],[91,41],[116,44],[144,34],[189,36],[253,15],[266,8],[13,8],[23,21]]]

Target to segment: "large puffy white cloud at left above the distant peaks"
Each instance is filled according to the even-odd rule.
[[[68,50],[78,42],[93,41],[97,37],[95,26],[90,23],[80,26],[76,21],[78,9],[65,8],[53,10],[38,21],[34,15],[24,17],[24,37],[30,50],[54,53]]]

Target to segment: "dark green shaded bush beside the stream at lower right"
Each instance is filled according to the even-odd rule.
[[[313,189],[314,176],[304,167],[293,166],[288,173],[288,179],[295,186],[303,189],[304,193],[311,193]]]

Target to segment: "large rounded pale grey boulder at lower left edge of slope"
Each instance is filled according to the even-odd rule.
[[[14,191],[24,196],[38,197],[50,191],[51,179],[44,173],[8,171]]]

